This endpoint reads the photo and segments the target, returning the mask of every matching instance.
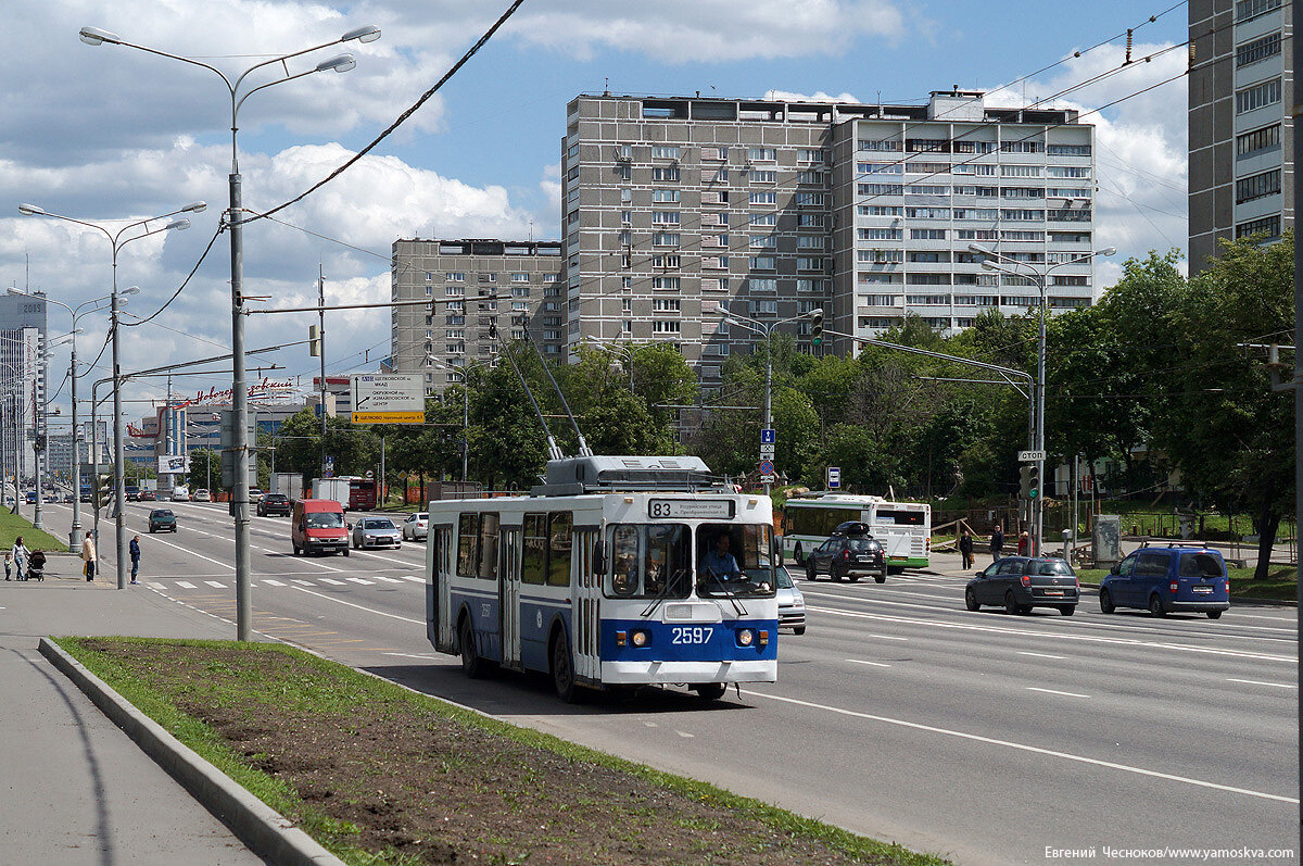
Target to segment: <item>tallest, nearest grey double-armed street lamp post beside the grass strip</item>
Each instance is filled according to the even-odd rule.
[[[336,57],[331,57],[330,60],[323,60],[317,64],[315,68],[306,72],[300,72],[292,76],[287,74],[284,78],[268,81],[258,85],[257,87],[249,87],[248,90],[241,91],[241,85],[244,85],[245,78],[248,78],[250,73],[262,69],[263,67],[284,64],[284,61],[291,57],[298,57],[301,55],[340,44],[343,42],[351,42],[353,39],[357,39],[358,42],[374,42],[380,38],[380,30],[375,26],[349,30],[339,39],[254,64],[253,67],[245,69],[235,81],[232,81],[216,67],[206,64],[201,60],[182,57],[180,55],[159,51],[156,48],[147,48],[145,46],[124,42],[117,38],[117,34],[99,30],[96,27],[82,27],[78,35],[81,40],[89,46],[99,46],[107,42],[108,44],[136,48],[138,51],[145,51],[146,53],[179,60],[181,63],[207,69],[222,78],[231,94],[231,175],[228,177],[231,188],[231,209],[227,213],[227,226],[231,230],[231,352],[235,356],[232,359],[231,408],[235,415],[235,430],[232,437],[232,451],[235,459],[232,463],[235,466],[236,477],[235,488],[232,490],[232,514],[235,515],[236,536],[236,638],[240,640],[249,640],[251,636],[250,623],[253,620],[253,603],[249,597],[249,574],[253,570],[253,561],[249,548],[249,394],[245,383],[244,347],[244,205],[241,202],[240,151],[236,141],[236,133],[240,129],[240,107],[244,104],[245,99],[259,90],[265,90],[266,87],[293,81],[294,78],[302,78],[304,76],[310,76],[315,72],[348,72],[356,67],[357,63],[353,60],[353,55],[343,53]],[[324,412],[324,410],[326,407],[323,406],[322,411]],[[121,566],[119,567],[119,571],[121,571]]]

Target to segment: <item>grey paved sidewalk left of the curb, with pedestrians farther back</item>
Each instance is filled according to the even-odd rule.
[[[47,635],[235,636],[113,587],[0,580],[0,863],[262,863],[36,652]]]

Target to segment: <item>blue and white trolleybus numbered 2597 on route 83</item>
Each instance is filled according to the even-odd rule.
[[[778,678],[773,505],[700,458],[550,460],[529,496],[429,513],[426,636],[469,677],[541,672],[567,702]]]

